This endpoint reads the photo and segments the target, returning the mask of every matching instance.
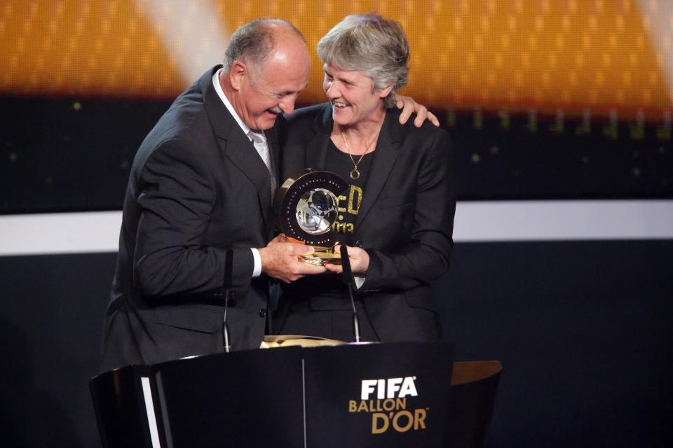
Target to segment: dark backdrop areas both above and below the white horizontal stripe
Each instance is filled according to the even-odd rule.
[[[121,209],[135,150],[169,104],[0,99],[0,214]],[[437,113],[460,200],[673,197],[655,127],[614,138],[605,123],[580,135],[553,117],[503,127]],[[115,258],[0,257],[4,445],[99,445],[88,379]],[[504,365],[489,446],[671,446],[672,267],[670,240],[456,244],[435,295],[458,359]]]

